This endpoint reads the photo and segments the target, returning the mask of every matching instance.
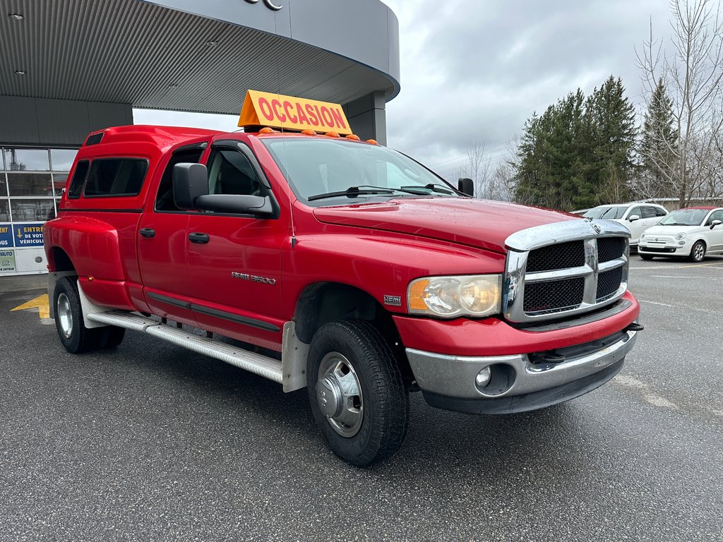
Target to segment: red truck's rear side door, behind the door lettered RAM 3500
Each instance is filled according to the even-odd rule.
[[[173,168],[177,163],[198,162],[208,142],[181,147],[171,155],[153,200],[136,233],[138,262],[145,301],[151,311],[179,322],[196,325],[188,289],[188,211],[174,203]]]

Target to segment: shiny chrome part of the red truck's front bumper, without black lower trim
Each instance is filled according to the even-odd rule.
[[[603,338],[585,345],[561,348],[555,353],[565,356],[565,361],[555,364],[534,363],[530,358],[532,355],[528,354],[463,357],[445,356],[412,348],[407,348],[406,353],[416,382],[423,392],[462,400],[500,400],[505,397],[517,397],[565,387],[577,381],[584,380],[588,384],[594,384],[595,374],[606,375],[604,379],[601,376],[601,382],[596,386],[588,385],[586,391],[594,389],[614,376],[615,373],[607,376],[609,371],[605,369],[620,362],[633,348],[635,342],[636,332],[626,331],[622,335],[617,335],[614,342]],[[486,392],[484,388],[479,389],[475,384],[476,375],[485,367],[497,364],[511,367],[512,371],[508,367],[504,368],[505,374],[510,375],[511,385],[502,392],[496,390]],[[577,395],[560,397],[557,403]]]

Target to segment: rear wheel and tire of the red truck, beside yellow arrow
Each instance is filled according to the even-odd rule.
[[[103,328],[89,330],[83,321],[80,296],[74,277],[63,277],[55,285],[53,296],[55,327],[66,350],[80,354],[98,348]]]

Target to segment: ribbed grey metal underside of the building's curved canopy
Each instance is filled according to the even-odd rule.
[[[249,88],[335,103],[398,92],[345,56],[142,1],[0,5],[0,95],[239,113]]]

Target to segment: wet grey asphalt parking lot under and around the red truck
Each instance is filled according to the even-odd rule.
[[[147,335],[73,356],[1,291],[1,541],[723,541],[723,257],[631,257],[646,330],[556,407],[411,398],[402,449],[353,468],[306,390]]]

